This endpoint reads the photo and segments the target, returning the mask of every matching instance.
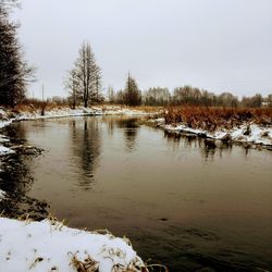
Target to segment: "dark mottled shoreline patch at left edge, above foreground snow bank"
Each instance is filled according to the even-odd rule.
[[[27,196],[34,181],[26,164],[46,151],[27,145],[25,139],[17,138],[12,126],[2,128],[2,133],[9,138],[4,145],[15,152],[0,157],[0,189],[4,191],[4,198],[0,201],[1,215],[44,220],[49,215],[50,207],[45,200]]]

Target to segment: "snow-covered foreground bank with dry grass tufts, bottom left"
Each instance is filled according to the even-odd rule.
[[[79,231],[48,220],[0,218],[0,270],[148,271],[125,238]]]

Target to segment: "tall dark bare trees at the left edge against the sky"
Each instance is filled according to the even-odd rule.
[[[23,101],[33,75],[17,40],[18,25],[9,18],[13,4],[15,1],[0,1],[0,104],[11,107]]]

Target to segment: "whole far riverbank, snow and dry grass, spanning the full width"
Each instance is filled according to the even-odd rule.
[[[32,106],[15,110],[0,108],[0,128],[12,122],[67,116],[88,115],[127,115],[149,116],[154,123],[170,134],[197,135],[214,140],[240,144],[246,148],[265,148],[272,150],[272,110],[271,109],[221,109],[183,107],[162,109],[143,107],[137,109],[120,106],[97,106],[90,108],[51,107],[41,115],[40,109]],[[159,118],[158,118],[159,116]],[[13,153],[4,146],[9,139],[0,134],[0,156]]]

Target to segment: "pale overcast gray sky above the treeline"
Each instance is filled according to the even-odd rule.
[[[272,0],[22,0],[13,17],[26,59],[38,67],[29,94],[64,96],[82,41],[103,87],[189,84],[217,94],[272,94]]]

